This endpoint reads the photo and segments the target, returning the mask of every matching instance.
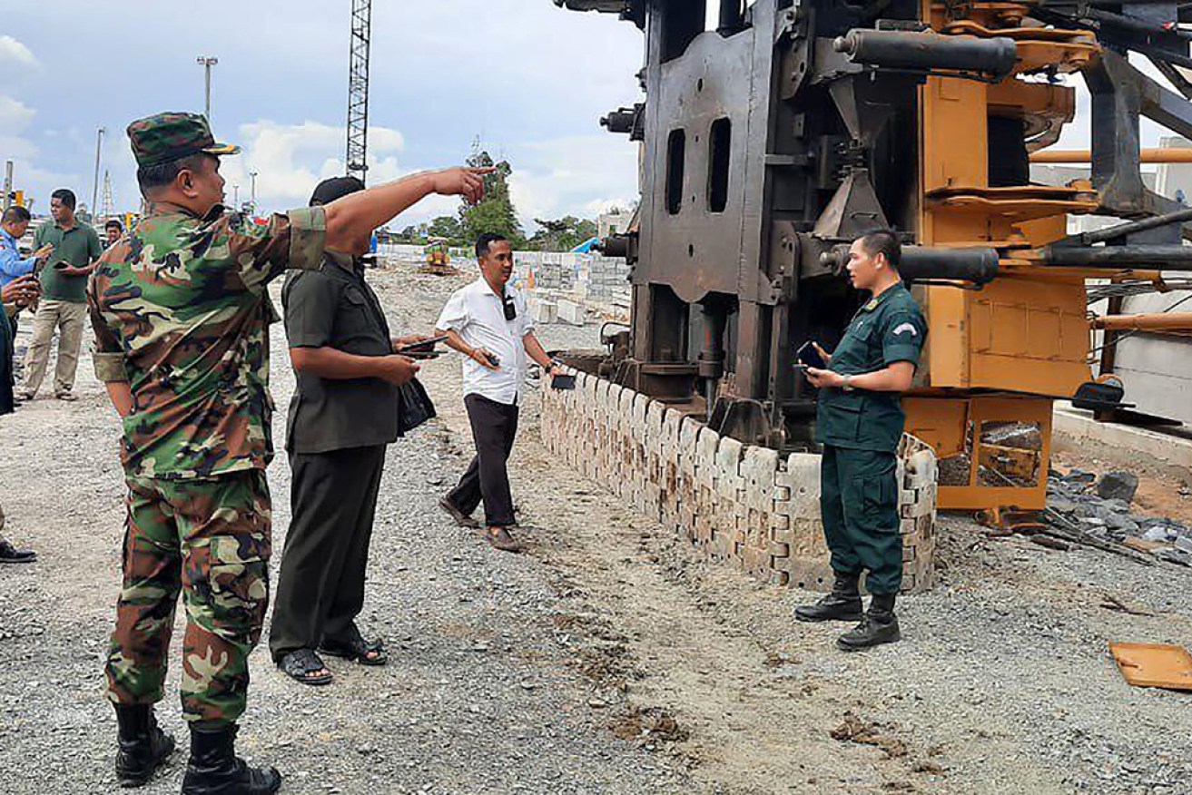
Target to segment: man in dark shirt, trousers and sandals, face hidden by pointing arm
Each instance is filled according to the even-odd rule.
[[[311,206],[365,190],[354,176],[324,180]],[[327,253],[323,268],[286,277],[281,303],[297,389],[286,423],[291,520],[281,553],[269,652],[303,684],[330,684],[322,651],[362,665],[389,662],[355,620],[385,448],[397,441],[399,392],[418,372],[396,347],[360,257]]]

